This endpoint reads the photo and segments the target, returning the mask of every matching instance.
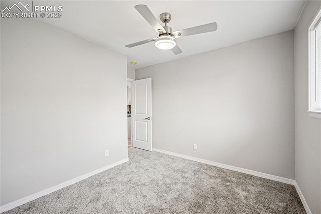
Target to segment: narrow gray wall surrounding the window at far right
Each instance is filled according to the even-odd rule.
[[[312,213],[321,213],[321,120],[308,113],[308,27],[321,6],[307,1],[294,31],[295,180]]]

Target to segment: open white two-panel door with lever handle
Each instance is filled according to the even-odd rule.
[[[132,146],[151,151],[151,78],[132,81]]]

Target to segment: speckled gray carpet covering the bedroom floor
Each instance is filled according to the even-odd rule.
[[[6,213],[305,213],[292,185],[157,152]]]

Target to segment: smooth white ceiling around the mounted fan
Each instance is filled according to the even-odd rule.
[[[123,53],[128,56],[128,67],[137,69],[291,30],[305,0],[33,1],[33,4],[62,5],[61,18],[39,17],[38,20]],[[183,51],[179,55],[171,50],[159,50],[153,42],[127,48],[127,44],[157,37],[134,8],[138,4],[147,5],[158,20],[159,14],[171,13],[168,25],[173,31],[211,22],[216,22],[218,28],[216,32],[178,38],[177,44]],[[138,64],[131,65],[131,61]]]

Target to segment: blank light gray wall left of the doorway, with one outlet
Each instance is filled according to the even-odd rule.
[[[126,56],[2,18],[1,57],[1,205],[127,158]]]

